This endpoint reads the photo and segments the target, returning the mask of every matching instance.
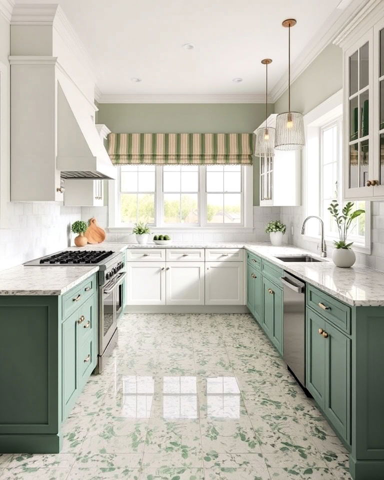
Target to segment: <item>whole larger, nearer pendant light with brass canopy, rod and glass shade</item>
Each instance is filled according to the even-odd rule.
[[[276,116],[275,148],[277,150],[300,150],[305,144],[302,113],[290,111],[290,27],[294,18],[287,18],[282,26],[288,28],[288,111]]]

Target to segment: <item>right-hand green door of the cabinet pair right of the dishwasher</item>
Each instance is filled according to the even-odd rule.
[[[341,437],[350,444],[351,340],[325,322],[324,413]]]

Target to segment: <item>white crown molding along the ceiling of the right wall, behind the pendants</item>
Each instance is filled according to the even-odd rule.
[[[365,9],[370,3],[379,3],[381,0],[352,0],[351,3],[339,13],[332,13],[323,23],[321,28],[312,37],[311,41],[300,52],[298,58],[291,63],[290,83],[310,65],[321,51],[339,35],[339,33],[351,23],[360,10]],[[372,7],[373,8],[373,7]],[[288,71],[280,77],[270,90],[270,96],[274,103],[288,88]]]

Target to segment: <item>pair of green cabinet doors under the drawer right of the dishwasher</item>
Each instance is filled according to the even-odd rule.
[[[350,445],[351,339],[306,309],[306,387],[334,430]]]

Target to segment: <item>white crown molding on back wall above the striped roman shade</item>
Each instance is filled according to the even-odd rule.
[[[262,94],[114,94],[101,93],[95,96],[99,103],[264,103]],[[95,89],[96,95],[96,89]],[[268,102],[270,99],[268,99]]]

